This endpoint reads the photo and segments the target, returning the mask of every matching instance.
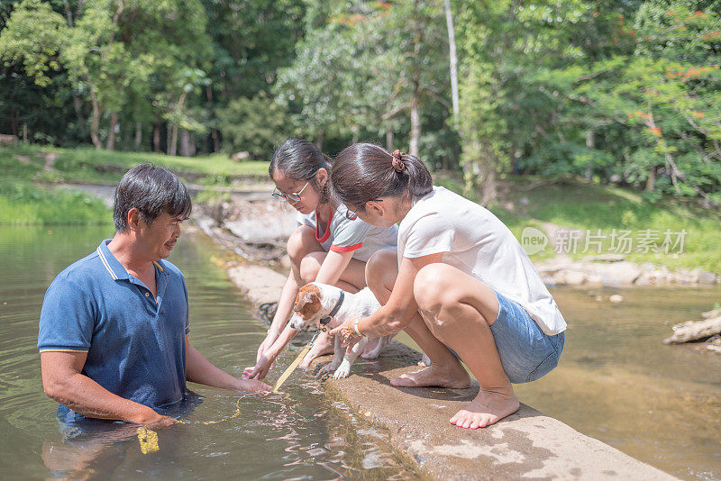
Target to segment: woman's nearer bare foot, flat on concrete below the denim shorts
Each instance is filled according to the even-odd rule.
[[[472,430],[485,428],[516,413],[519,405],[511,386],[497,391],[481,389],[479,395],[469,405],[455,413],[451,418],[451,424]]]

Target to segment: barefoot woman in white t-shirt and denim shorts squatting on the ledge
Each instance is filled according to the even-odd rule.
[[[423,162],[398,150],[351,145],[333,161],[330,184],[333,199],[363,221],[400,222],[397,251],[379,251],[366,268],[383,306],[331,334],[353,343],[405,330],[432,364],[394,386],[470,386],[455,352],[480,390],[452,424],[475,429],[515,413],[511,383],[557,366],[566,322],[511,231],[479,204],[433,186]]]

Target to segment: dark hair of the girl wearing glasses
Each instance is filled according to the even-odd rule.
[[[315,147],[315,143],[305,139],[288,139],[273,153],[268,174],[273,178],[276,171],[295,180],[310,180],[311,185],[321,195],[321,203],[328,202],[328,183],[318,185],[315,174],[324,168],[330,174],[332,160]]]

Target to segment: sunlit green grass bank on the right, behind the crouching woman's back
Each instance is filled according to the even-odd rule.
[[[435,183],[461,192],[459,177],[447,174],[434,175]],[[626,258],[634,262],[653,262],[671,269],[702,268],[721,272],[721,213],[704,209],[690,202],[675,198],[664,198],[658,203],[647,201],[643,195],[630,189],[601,186],[580,181],[565,181],[550,184],[540,178],[511,177],[499,182],[499,198],[490,205],[501,221],[520,239],[520,233],[527,226],[543,231],[542,222],[569,229],[590,231],[596,235],[598,229],[605,236],[602,253],[614,253],[611,249],[611,234],[631,231],[631,252]],[[472,199],[476,200],[476,199]],[[679,247],[668,253],[639,251],[638,240],[643,231],[655,236],[653,244],[662,247],[664,233],[671,232],[676,241],[677,232],[686,231],[683,251]],[[596,254],[596,249],[585,250],[580,241],[574,259]],[[554,246],[543,253],[532,256],[539,260],[552,257]]]

